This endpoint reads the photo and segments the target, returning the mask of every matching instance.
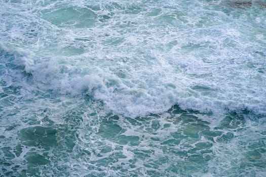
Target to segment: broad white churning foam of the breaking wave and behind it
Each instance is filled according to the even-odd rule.
[[[81,4],[86,7],[86,3]],[[33,29],[30,21],[17,21],[17,27],[11,29],[4,25],[6,32],[21,32],[16,32],[17,37],[10,36],[12,33],[6,36],[6,45],[11,45],[7,43],[11,37],[23,38],[33,47],[31,52],[17,47],[13,51],[14,62],[24,66],[24,70],[33,75],[36,85],[43,89],[71,95],[88,92],[107,109],[130,117],[161,113],[174,104],[203,112],[248,109],[265,114],[263,36],[266,34],[261,27],[241,26],[245,17],[236,19],[222,11],[212,11],[218,15],[215,17],[206,15],[209,10],[200,9],[202,17],[187,19],[192,12],[180,13],[178,7],[176,10],[162,8],[160,15],[151,17],[147,14],[152,8],[138,5],[138,16],[123,14],[120,8],[107,10],[97,4],[96,7],[98,9],[89,9],[97,18],[108,17],[102,22],[95,21],[96,26],[90,28],[72,28],[70,22],[46,19],[49,23],[44,23],[34,19],[33,28],[43,39],[34,37],[34,41],[39,41],[37,48],[34,47],[36,42],[32,45],[27,38],[33,35],[28,33]],[[45,9],[35,15],[49,14]],[[67,10],[72,12],[71,8],[64,11]],[[257,19],[263,15],[249,10],[243,13],[249,15],[248,20],[254,18],[258,25],[262,24]],[[59,23],[60,34],[51,29],[51,25]],[[24,29],[20,24],[31,27]],[[47,33],[50,34],[47,36]],[[260,36],[256,46],[254,34]]]

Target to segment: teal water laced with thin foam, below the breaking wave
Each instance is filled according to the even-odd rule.
[[[198,175],[263,174],[264,122],[232,113],[215,126],[208,116],[177,106],[164,114],[129,118],[84,112],[88,103],[60,116],[45,117],[19,130],[14,147],[1,152],[5,175]],[[43,126],[43,125],[49,126]],[[4,134],[5,135],[5,134]],[[15,159],[24,159],[13,165]],[[230,167],[230,170],[228,168]],[[14,169],[20,169],[15,172]]]

